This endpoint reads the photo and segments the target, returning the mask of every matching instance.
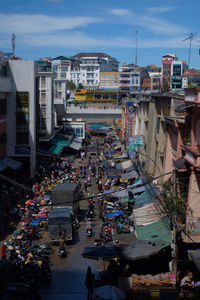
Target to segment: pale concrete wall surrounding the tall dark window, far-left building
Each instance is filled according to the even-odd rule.
[[[7,155],[30,157],[30,175],[34,175],[36,166],[36,62],[32,60],[9,60],[9,77],[12,92],[7,102]],[[16,154],[16,92],[29,92],[29,146],[30,155]]]

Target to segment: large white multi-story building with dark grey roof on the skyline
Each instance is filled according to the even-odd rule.
[[[117,72],[118,61],[105,53],[78,53],[72,57],[80,61],[80,82],[86,89],[97,89],[100,72]]]

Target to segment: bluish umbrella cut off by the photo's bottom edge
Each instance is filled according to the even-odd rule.
[[[114,285],[103,285],[94,289],[94,295],[102,299],[120,300],[125,299],[125,293]]]

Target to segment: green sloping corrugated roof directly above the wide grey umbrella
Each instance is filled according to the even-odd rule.
[[[138,240],[171,242],[170,220],[165,217],[155,223],[136,228]]]

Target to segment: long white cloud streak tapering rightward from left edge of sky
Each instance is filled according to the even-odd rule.
[[[52,17],[47,15],[0,14],[0,33],[41,33],[71,30],[91,23],[101,22],[92,17]]]

